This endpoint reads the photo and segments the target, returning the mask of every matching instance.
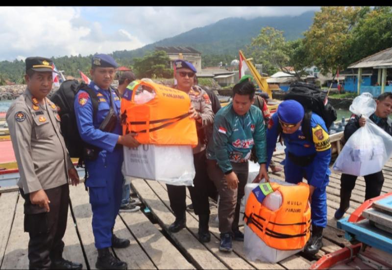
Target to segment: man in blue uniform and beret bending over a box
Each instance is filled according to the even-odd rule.
[[[310,126],[302,125],[304,108],[294,100],[279,104],[272,115],[267,129],[268,163],[276,146],[279,133],[286,144],[284,171],[286,182],[299,183],[303,177],[310,188],[309,202],[312,209],[312,237],[304,251],[316,254],[322,247],[322,231],[327,225],[327,194],[331,143],[324,120],[312,113]],[[281,132],[280,132],[281,131]],[[311,138],[310,141],[306,138]]]

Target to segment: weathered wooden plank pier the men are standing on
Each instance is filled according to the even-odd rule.
[[[284,155],[277,154],[273,159],[280,162]],[[385,182],[382,194],[392,191],[392,160],[387,162],[383,172]],[[270,174],[270,177],[283,179],[283,174]],[[349,244],[344,239],[344,232],[336,228],[336,220],[333,218],[340,201],[340,174],[332,173],[327,187],[328,226],[324,230],[324,246],[314,257],[298,253],[279,263],[248,260],[242,242],[233,241],[231,253],[220,252],[220,234],[216,222],[218,211],[214,203],[210,207],[210,243],[200,243],[197,240],[198,221],[192,211],[187,212],[187,228],[175,234],[170,233],[168,226],[173,222],[174,215],[170,209],[166,186],[143,179],[133,180],[131,186],[136,192],[133,195],[137,195],[144,204],[143,211],[120,213],[114,229],[117,236],[131,241],[127,248],[114,249],[116,256],[127,262],[128,269],[307,269],[320,256]],[[28,234],[23,229],[24,199],[16,187],[1,188],[0,192],[0,269],[27,269]],[[365,181],[363,177],[359,177],[347,214],[361,205],[364,197]],[[83,269],[95,269],[97,249],[91,226],[91,206],[84,185],[70,186],[70,198],[63,256],[83,263]],[[188,193],[187,204],[189,203],[191,200]]]

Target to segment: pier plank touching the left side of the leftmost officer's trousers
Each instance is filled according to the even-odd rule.
[[[1,269],[28,269],[27,244],[29,236],[24,230],[24,202],[22,196],[19,196]]]

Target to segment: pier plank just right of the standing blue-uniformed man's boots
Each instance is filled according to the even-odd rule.
[[[135,215],[143,215],[140,212],[124,213]],[[125,216],[127,216],[125,215]],[[126,248],[114,248],[118,258],[128,264],[128,269],[157,269],[148,258],[144,250],[139,246],[139,243],[132,236],[128,228],[125,226],[122,218],[117,216],[116,223],[114,224],[114,233],[117,237],[129,239],[130,245]]]

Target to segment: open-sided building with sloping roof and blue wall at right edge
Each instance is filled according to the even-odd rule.
[[[347,67],[344,90],[374,97],[392,92],[392,48],[365,57]]]

